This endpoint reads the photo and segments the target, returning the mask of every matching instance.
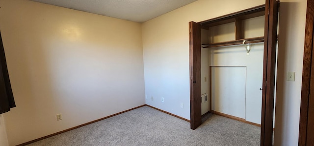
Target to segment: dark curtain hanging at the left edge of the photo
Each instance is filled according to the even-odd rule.
[[[0,114],[8,112],[15,107],[8,68],[6,66],[4,48],[0,32]]]

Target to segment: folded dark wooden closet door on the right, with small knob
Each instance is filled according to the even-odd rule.
[[[272,146],[276,73],[278,2],[265,2],[261,146]]]

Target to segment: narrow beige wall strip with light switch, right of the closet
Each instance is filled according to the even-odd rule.
[[[274,146],[298,146],[307,0],[280,0]],[[295,82],[286,81],[295,72]]]

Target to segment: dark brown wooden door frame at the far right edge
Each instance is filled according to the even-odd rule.
[[[304,57],[301,88],[299,146],[311,146],[313,139],[314,95],[314,0],[307,1],[305,22]],[[312,83],[312,84],[311,84]],[[312,98],[311,98],[312,96]]]

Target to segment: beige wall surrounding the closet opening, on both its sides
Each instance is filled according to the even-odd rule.
[[[151,101],[162,110],[190,119],[188,22],[204,21],[253,6],[265,0],[198,0],[142,25],[145,94],[164,97]],[[296,146],[306,0],[281,0],[275,146]],[[295,82],[286,82],[295,71]],[[155,98],[154,98],[155,99]],[[180,103],[184,108],[180,108]]]

